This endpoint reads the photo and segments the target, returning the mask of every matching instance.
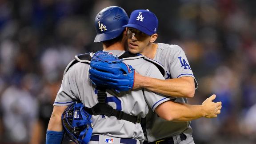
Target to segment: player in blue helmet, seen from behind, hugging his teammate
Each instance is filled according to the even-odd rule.
[[[112,17],[112,19],[108,19],[107,16]],[[105,8],[96,16],[95,23],[96,29],[99,29],[98,31],[101,32],[97,34],[95,41],[103,42],[104,50],[111,52],[114,56],[123,56],[125,54],[123,50],[126,43],[126,31],[121,27],[124,23],[128,23],[128,16],[124,10],[120,7]],[[101,35],[102,32],[104,32],[104,35]],[[48,143],[60,143],[60,139],[57,141],[57,138],[62,137],[60,116],[68,104],[74,100],[80,100],[84,106],[92,108],[98,102],[95,94],[97,92],[96,86],[88,78],[89,65],[83,63],[86,61],[83,57],[76,56],[76,60],[78,61],[77,63],[74,64],[72,61],[65,70],[63,82],[56,97],[52,117],[48,125]],[[131,64],[140,75],[164,80],[161,72],[156,67],[156,63],[152,64],[144,56],[134,56],[132,59],[127,58],[123,59],[123,61],[126,64]],[[113,108],[120,109],[133,116],[144,118],[152,109],[152,111],[155,111],[165,120],[173,119],[172,111],[162,112],[162,110],[171,109],[171,103],[174,102],[170,98],[156,95],[146,89],[138,88],[133,91],[120,93],[107,90],[106,100]],[[178,103],[175,104],[179,105]],[[187,108],[181,104],[179,106],[184,110]],[[218,112],[218,106],[211,100],[206,100],[203,106],[194,106],[194,108],[193,111],[186,110],[188,117],[206,115],[213,117]],[[205,110],[203,114],[199,110],[202,108]],[[101,115],[92,116],[92,122],[94,125],[93,136],[89,144],[103,143],[110,139],[117,144],[124,143],[125,140],[129,140],[126,144],[132,144],[142,143],[144,139],[142,128],[138,123],[134,124],[127,120],[118,120],[114,116]]]

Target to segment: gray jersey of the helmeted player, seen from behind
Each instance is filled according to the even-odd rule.
[[[124,51],[118,50],[108,52],[112,52],[114,56],[120,56],[124,53]],[[123,62],[132,65],[135,71],[143,76],[164,79],[164,76],[162,76],[154,64],[143,58],[134,59],[134,57],[132,60],[123,59]],[[89,67],[89,64],[78,62],[68,69],[53,105],[65,106],[69,105],[72,101],[80,100],[84,106],[92,108],[98,103],[96,87],[89,79]],[[144,118],[150,109],[154,111],[159,104],[169,100],[169,98],[139,88],[120,93],[107,90],[106,100],[109,105],[117,110]],[[133,124],[126,120],[117,120],[115,116],[101,115],[92,116],[92,123],[93,135],[134,138],[140,140],[141,143],[144,140],[140,124]]]

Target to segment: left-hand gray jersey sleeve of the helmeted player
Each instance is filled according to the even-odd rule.
[[[76,100],[76,87],[75,87],[75,72],[71,67],[68,72],[65,73],[60,90],[57,93],[56,99],[53,105],[66,106]]]

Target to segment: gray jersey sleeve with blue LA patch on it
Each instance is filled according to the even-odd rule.
[[[175,45],[176,47],[179,47]],[[192,69],[188,63],[187,56],[185,55],[185,52],[179,47],[178,50],[176,50],[172,57],[170,57],[170,74],[172,78],[179,78],[183,76],[191,76],[195,80],[195,85],[197,88],[197,81],[196,78],[192,72]]]

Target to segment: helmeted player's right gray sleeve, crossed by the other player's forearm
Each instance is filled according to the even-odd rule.
[[[148,71],[146,72],[145,76],[164,80],[164,76],[162,76],[161,72],[153,64],[148,68]],[[148,106],[153,111],[155,111],[155,108],[158,105],[164,103],[165,101],[171,100],[172,98],[175,98],[175,97],[164,96],[162,94],[149,91],[148,89],[144,89],[144,97]]]

